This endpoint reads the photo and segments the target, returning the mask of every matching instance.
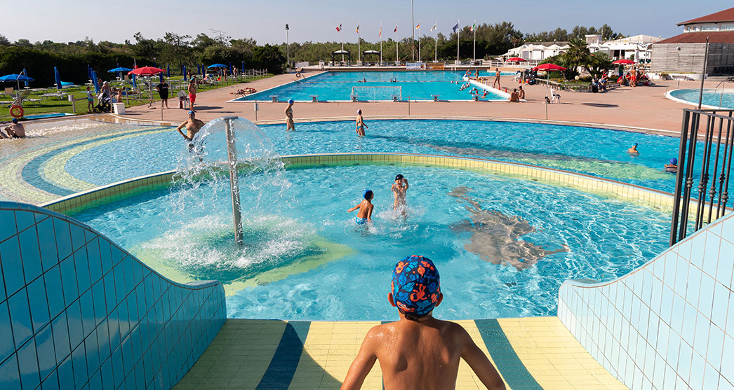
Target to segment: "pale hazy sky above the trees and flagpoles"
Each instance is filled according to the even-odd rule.
[[[663,38],[683,32],[675,23],[733,5],[731,0],[413,1],[415,24],[420,21],[424,35],[432,34],[434,23],[448,35],[457,22],[470,25],[476,18],[476,23],[506,20],[523,33],[607,23],[626,36]],[[138,31],[148,38],[163,37],[167,31],[192,37],[201,32],[217,36],[222,31],[228,37],[254,38],[259,44],[280,43],[286,42],[286,23],[290,42],[356,42],[357,23],[364,40],[377,42],[381,20],[384,39],[395,39],[396,23],[399,39],[413,33],[410,0],[25,0],[20,6],[32,12],[3,18],[1,23],[0,34],[11,42],[21,38],[76,42],[90,37],[95,42],[123,43],[134,42]],[[338,33],[335,27],[340,23],[344,30]]]

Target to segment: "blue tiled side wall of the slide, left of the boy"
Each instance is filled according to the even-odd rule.
[[[226,318],[87,225],[0,202],[0,389],[169,389]]]

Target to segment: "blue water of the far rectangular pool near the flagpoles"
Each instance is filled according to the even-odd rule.
[[[374,91],[357,91],[359,100],[393,100],[393,94],[401,94],[402,100],[433,100],[431,95],[439,95],[440,100],[471,100],[470,88],[460,91],[464,72],[449,71],[410,71],[410,72],[325,72],[295,83],[278,86],[267,91],[259,91],[248,95],[246,99],[236,100],[271,100],[277,96],[279,100],[293,99],[311,101],[311,96],[318,96],[321,101],[352,100],[352,87],[388,87]],[[482,72],[481,76],[490,77],[494,72]],[[514,73],[512,73],[514,75]],[[396,82],[390,82],[390,80]],[[362,82],[366,80],[365,82]],[[401,92],[396,92],[396,87]],[[498,94],[490,92],[483,100],[506,100]]]

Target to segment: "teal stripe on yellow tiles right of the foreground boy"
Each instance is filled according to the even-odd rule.
[[[482,335],[484,345],[497,365],[497,370],[511,389],[539,389],[542,386],[523,364],[515,353],[512,344],[504,334],[498,320],[474,320],[476,329]]]

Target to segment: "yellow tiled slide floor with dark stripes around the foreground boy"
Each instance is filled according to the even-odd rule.
[[[557,317],[461,320],[508,389],[627,389]],[[175,389],[338,389],[378,321],[233,320]],[[382,388],[379,364],[363,389]],[[465,361],[457,389],[484,389]]]

